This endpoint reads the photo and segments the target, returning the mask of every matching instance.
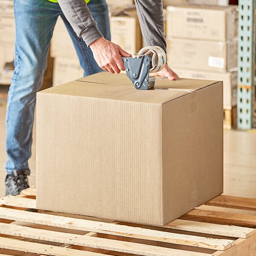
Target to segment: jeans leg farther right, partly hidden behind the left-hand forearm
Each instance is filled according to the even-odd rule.
[[[109,16],[108,16],[108,5],[105,0],[91,0],[87,6],[89,7],[94,20],[97,22],[97,27],[102,32],[102,35],[108,40],[111,40],[110,36],[110,25],[109,25]],[[70,23],[67,21],[67,19],[64,17],[64,15],[61,15],[61,18],[63,19],[65,26],[67,28],[67,31],[70,34],[70,37],[73,41],[73,44],[75,46],[79,62],[81,67],[84,70],[84,76],[89,76],[94,73],[98,73],[103,71],[93,57],[93,52],[91,51],[90,47],[87,47],[85,42],[82,38],[79,38],[72,27],[70,26]]]

